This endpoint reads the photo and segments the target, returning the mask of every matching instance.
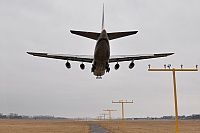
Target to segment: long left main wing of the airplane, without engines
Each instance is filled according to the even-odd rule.
[[[35,53],[35,52],[27,52],[33,56],[45,57],[45,58],[53,58],[60,60],[71,60],[71,61],[80,61],[80,62],[88,62],[92,63],[93,56],[90,55],[66,55],[66,54],[49,54],[49,53]]]

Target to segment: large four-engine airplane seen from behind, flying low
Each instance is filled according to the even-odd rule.
[[[53,58],[53,59],[61,59],[67,60],[65,66],[69,69],[71,68],[70,61],[78,61],[81,62],[80,68],[82,70],[85,69],[85,65],[83,62],[92,63],[91,72],[96,76],[96,79],[101,79],[105,72],[110,72],[109,63],[116,63],[114,66],[115,70],[118,70],[120,65],[119,62],[123,61],[131,61],[129,64],[129,68],[132,69],[135,66],[135,60],[143,60],[150,58],[159,58],[166,57],[169,55],[173,55],[174,53],[160,53],[160,54],[146,54],[146,55],[118,55],[118,56],[110,56],[110,40],[114,40],[117,38],[134,35],[138,31],[126,31],[126,32],[112,32],[107,33],[104,28],[104,5],[103,5],[103,15],[102,15],[102,30],[101,33],[97,32],[87,32],[87,31],[77,31],[70,30],[72,34],[79,35],[82,37],[86,37],[89,39],[96,40],[96,46],[94,50],[94,55],[66,55],[66,54],[50,54],[50,53],[36,53],[36,52],[27,52],[33,56]]]

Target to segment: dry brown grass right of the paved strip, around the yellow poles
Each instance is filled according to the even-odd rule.
[[[175,133],[175,121],[125,121],[125,133]],[[101,123],[101,126],[112,133],[122,133],[121,121],[113,121],[112,126]],[[180,133],[200,133],[200,121],[179,121]]]

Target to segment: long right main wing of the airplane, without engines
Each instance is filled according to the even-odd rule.
[[[118,56],[111,56],[109,59],[109,62],[112,63],[112,62],[160,58],[160,57],[166,57],[173,54],[174,53],[147,54],[147,55],[118,55]]]

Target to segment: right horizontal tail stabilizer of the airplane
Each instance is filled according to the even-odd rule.
[[[113,32],[113,33],[108,33],[108,38],[109,40],[117,39],[120,37],[125,37],[129,35],[136,34],[138,31],[127,31],[127,32]]]

